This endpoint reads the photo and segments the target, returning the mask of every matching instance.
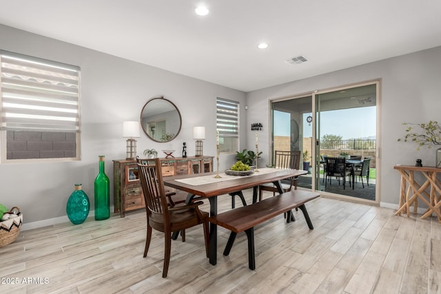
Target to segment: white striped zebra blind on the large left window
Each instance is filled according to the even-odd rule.
[[[1,129],[79,132],[80,69],[0,50]]]

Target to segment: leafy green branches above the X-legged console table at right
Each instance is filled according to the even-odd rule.
[[[431,145],[441,145],[441,126],[435,120],[430,120],[429,123],[402,123],[407,125],[406,135],[403,138],[399,138],[398,141],[402,139],[404,142],[410,140],[411,142],[418,143],[417,150],[420,150],[421,146],[426,145],[427,148],[431,148]],[[414,132],[414,126],[418,126],[422,129],[422,134]]]

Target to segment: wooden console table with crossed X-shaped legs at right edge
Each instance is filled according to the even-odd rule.
[[[441,169],[436,167],[415,167],[412,165],[395,165],[401,175],[400,204],[396,216],[406,213],[409,217],[410,207],[413,204],[413,213],[418,209],[418,199],[427,204],[421,218],[427,218],[435,213],[438,216],[438,222],[441,222],[441,182],[437,178]],[[425,181],[420,184],[415,178],[415,171],[422,174]]]

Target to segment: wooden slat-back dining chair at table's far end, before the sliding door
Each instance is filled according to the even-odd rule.
[[[274,167],[277,169],[298,169],[300,166],[300,151],[274,151]],[[282,182],[283,192],[290,191],[294,186],[294,190],[297,189],[298,177],[287,178],[288,182]],[[273,196],[276,195],[277,188],[272,183],[259,185],[259,201],[263,198],[263,191],[273,192]]]

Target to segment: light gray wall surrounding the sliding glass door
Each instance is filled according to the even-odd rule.
[[[402,123],[441,122],[441,47],[397,56],[391,59],[322,74],[301,81],[247,93],[248,123],[262,122],[269,126],[269,100],[296,94],[311,93],[331,87],[381,79],[380,89],[380,204],[398,207],[400,176],[393,165],[415,165],[421,158],[423,165],[435,165],[435,146],[416,151],[413,143],[398,142],[404,135]],[[264,152],[261,162],[269,161],[269,127],[260,132],[259,146]],[[254,134],[248,134],[252,140]]]

